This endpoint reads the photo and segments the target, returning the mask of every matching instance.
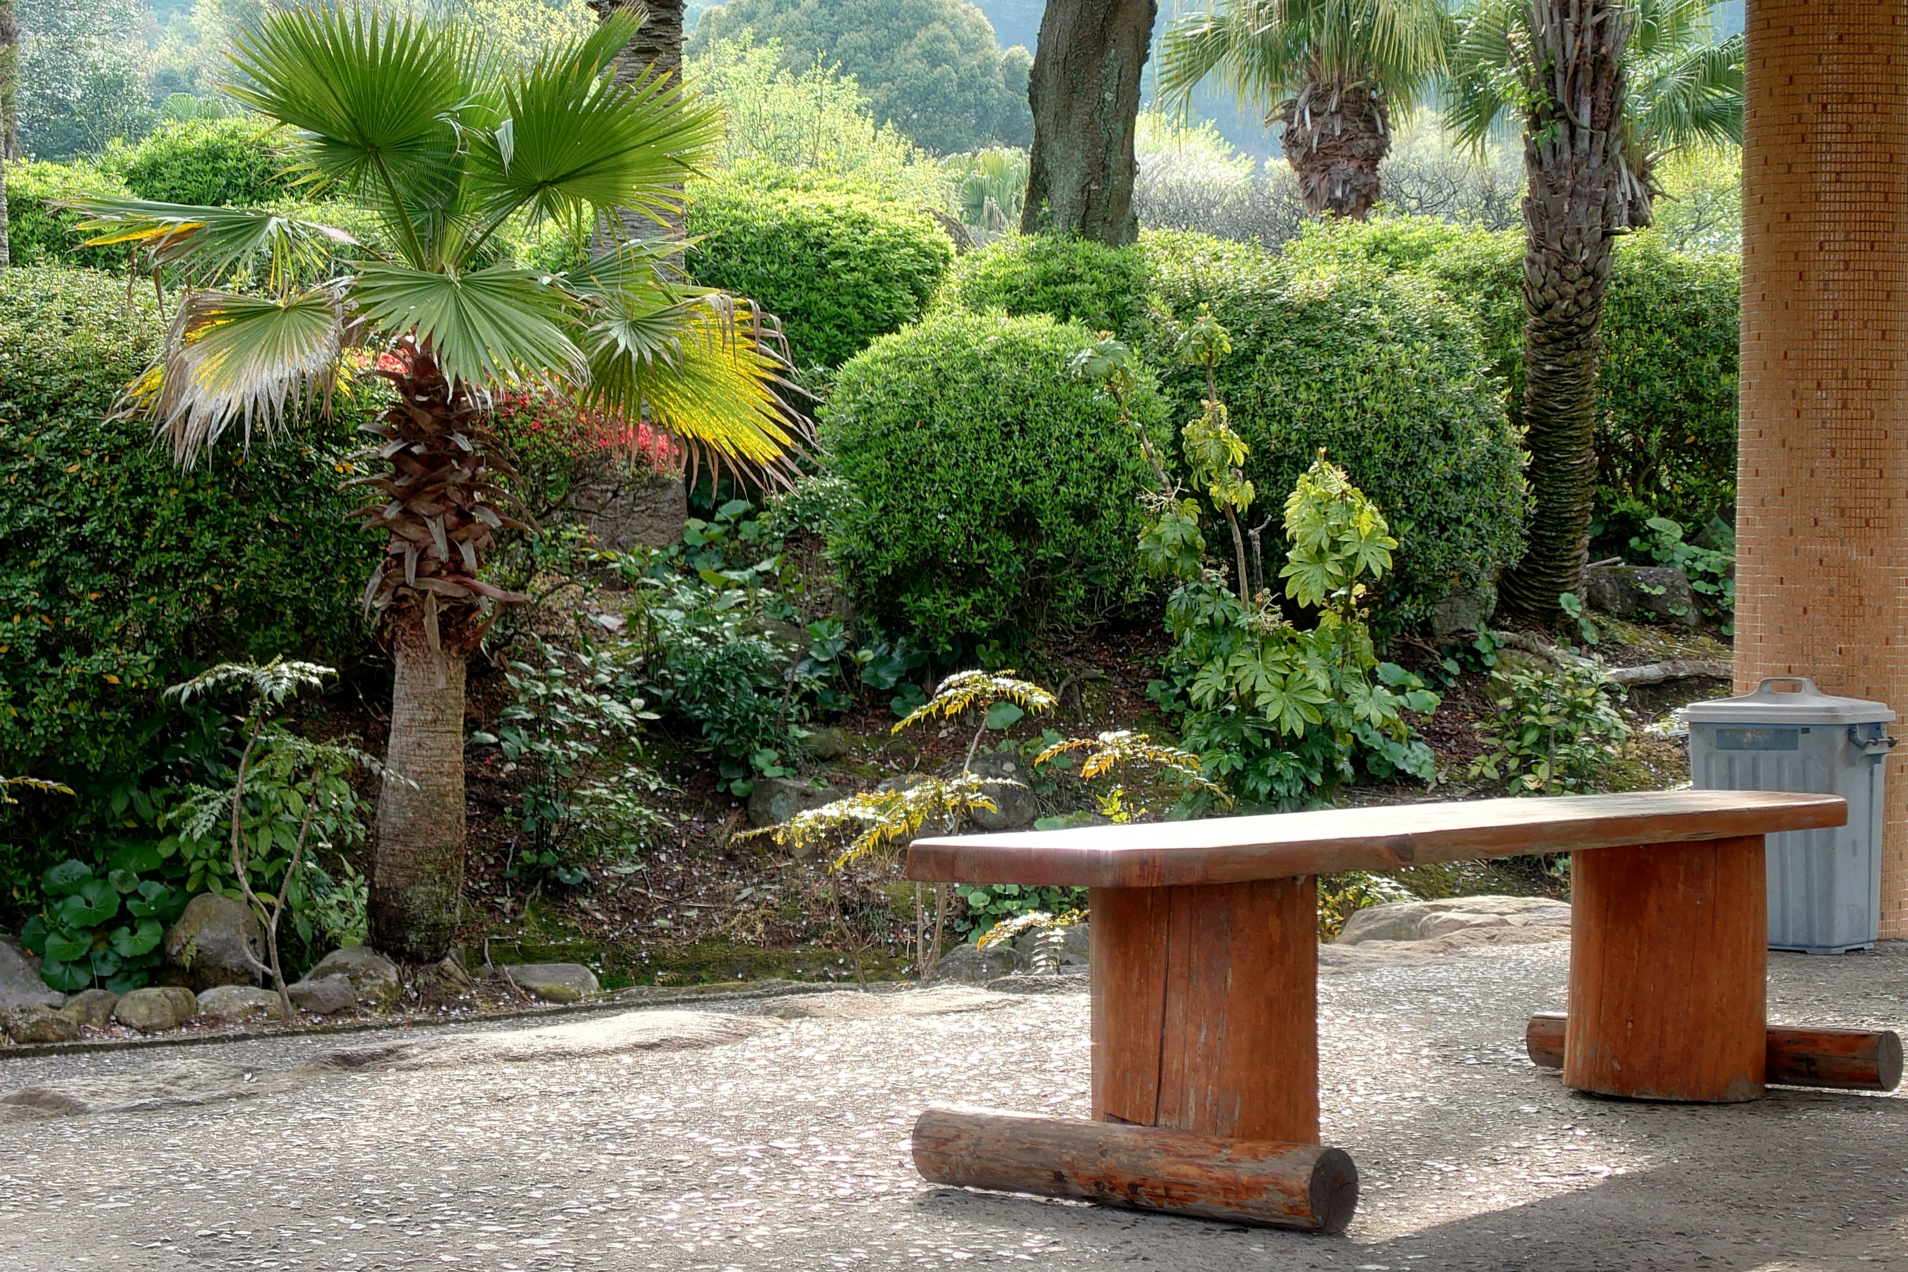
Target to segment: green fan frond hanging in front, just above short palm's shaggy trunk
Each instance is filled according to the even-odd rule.
[[[574,297],[536,271],[364,265],[349,296],[372,326],[414,334],[452,380],[582,383],[588,376],[588,360],[565,330],[574,320]]]

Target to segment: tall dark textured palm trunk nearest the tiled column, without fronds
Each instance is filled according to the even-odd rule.
[[[1576,593],[1597,494],[1597,360],[1610,250],[1637,204],[1624,164],[1620,0],[1532,0],[1517,48],[1524,124],[1524,444],[1528,547],[1500,584],[1505,608],[1544,624]],[[1649,206],[1649,200],[1641,200]]]

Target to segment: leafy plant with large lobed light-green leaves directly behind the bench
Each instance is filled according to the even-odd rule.
[[[1240,530],[1257,492],[1242,477],[1246,442],[1217,400],[1213,368],[1231,343],[1208,315],[1187,332],[1185,357],[1204,362],[1208,399],[1181,431],[1192,486],[1185,494],[1151,454],[1160,490],[1149,496],[1152,524],[1141,534],[1141,561],[1179,578],[1166,603],[1173,646],[1166,677],[1152,683],[1162,708],[1175,713],[1181,742],[1200,757],[1204,776],[1255,807],[1299,807],[1326,797],[1364,770],[1376,778],[1404,772],[1437,778],[1431,748],[1412,732],[1406,713],[1429,713],[1439,698],[1404,667],[1381,662],[1366,626],[1368,587],[1391,568],[1397,540],[1378,505],[1324,452],[1303,473],[1284,507],[1290,549],[1278,576],[1284,597],[1313,616],[1296,626],[1271,589],[1254,587],[1263,563],[1248,574],[1246,540],[1259,557],[1259,526]],[[1122,397],[1130,357],[1101,338],[1074,359],[1076,374],[1097,376]],[[1208,511],[1210,509],[1210,511]],[[1236,585],[1206,561],[1198,519],[1225,521]],[[1192,786],[1192,803],[1210,799]]]

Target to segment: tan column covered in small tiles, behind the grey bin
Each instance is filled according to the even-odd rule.
[[[1750,0],[1748,44],[1736,690],[1815,675],[1908,717],[1908,10]],[[1881,934],[1908,936],[1889,769]]]

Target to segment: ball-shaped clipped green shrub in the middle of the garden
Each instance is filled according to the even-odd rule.
[[[1046,317],[935,315],[841,368],[822,442],[853,502],[828,526],[861,610],[929,643],[1017,643],[1135,597],[1137,494],[1116,408]],[[1135,418],[1166,442],[1143,376]]]

